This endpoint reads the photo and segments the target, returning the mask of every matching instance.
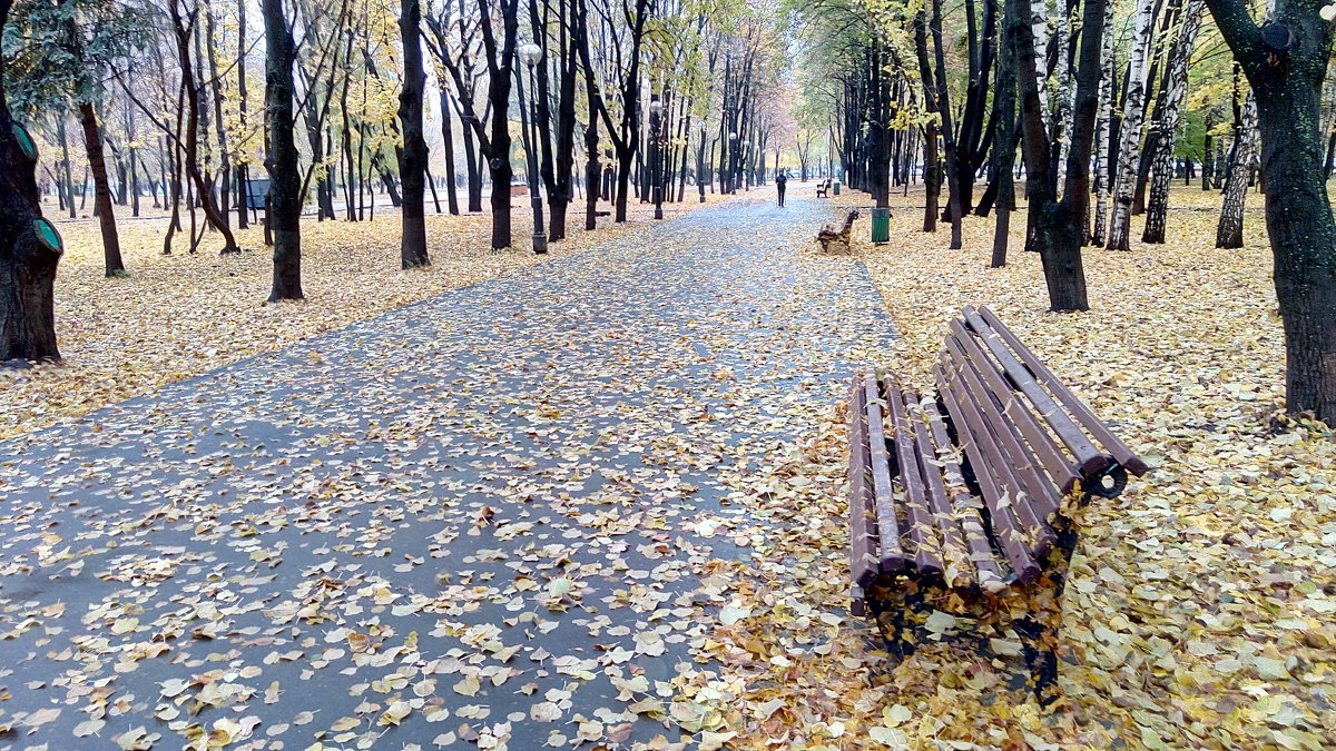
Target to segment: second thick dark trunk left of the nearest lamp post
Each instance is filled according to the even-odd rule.
[[[430,266],[426,253],[426,139],[422,138],[422,8],[420,0],[402,0],[399,33],[403,36],[403,82],[399,90],[399,122],[403,148],[399,151],[399,180],[403,182],[403,237],[399,261],[405,269]],[[509,200],[509,195],[506,196]]]

